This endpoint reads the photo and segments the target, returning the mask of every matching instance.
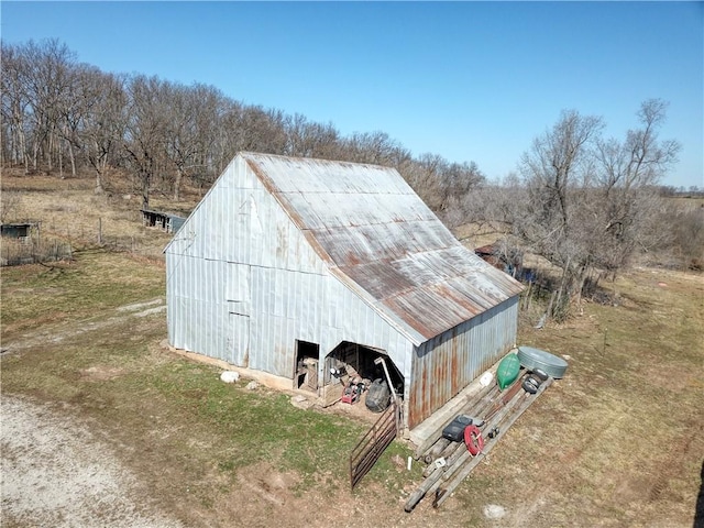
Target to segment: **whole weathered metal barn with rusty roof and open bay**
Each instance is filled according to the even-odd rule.
[[[406,431],[516,342],[520,284],[393,168],[240,153],[165,253],[172,346],[323,404],[383,358]]]

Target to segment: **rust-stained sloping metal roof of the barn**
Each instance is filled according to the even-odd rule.
[[[416,344],[517,295],[394,168],[242,153],[331,273]]]

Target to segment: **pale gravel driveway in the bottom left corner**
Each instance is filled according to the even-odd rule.
[[[87,424],[3,397],[3,527],[182,526],[144,504],[136,479]]]

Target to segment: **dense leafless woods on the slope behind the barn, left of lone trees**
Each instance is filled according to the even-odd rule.
[[[393,166],[437,211],[485,179],[475,163],[414,157],[384,132],[343,136],[331,123],[244,105],[212,86],[106,73],[57,40],[3,42],[1,88],[3,166],[59,176],[88,168],[98,193],[108,170],[123,169],[143,207],[154,190],[178,200],[187,179],[210,186],[240,151]]]

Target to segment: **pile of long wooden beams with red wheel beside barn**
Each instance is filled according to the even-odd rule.
[[[433,497],[436,508],[444,503],[553,381],[538,369],[521,366],[510,386],[501,388],[496,382],[477,392],[442,429],[439,438],[416,453],[418,460],[428,465],[425,480],[410,494],[404,509],[413,512],[426,496]],[[462,431],[461,436],[458,430]]]

